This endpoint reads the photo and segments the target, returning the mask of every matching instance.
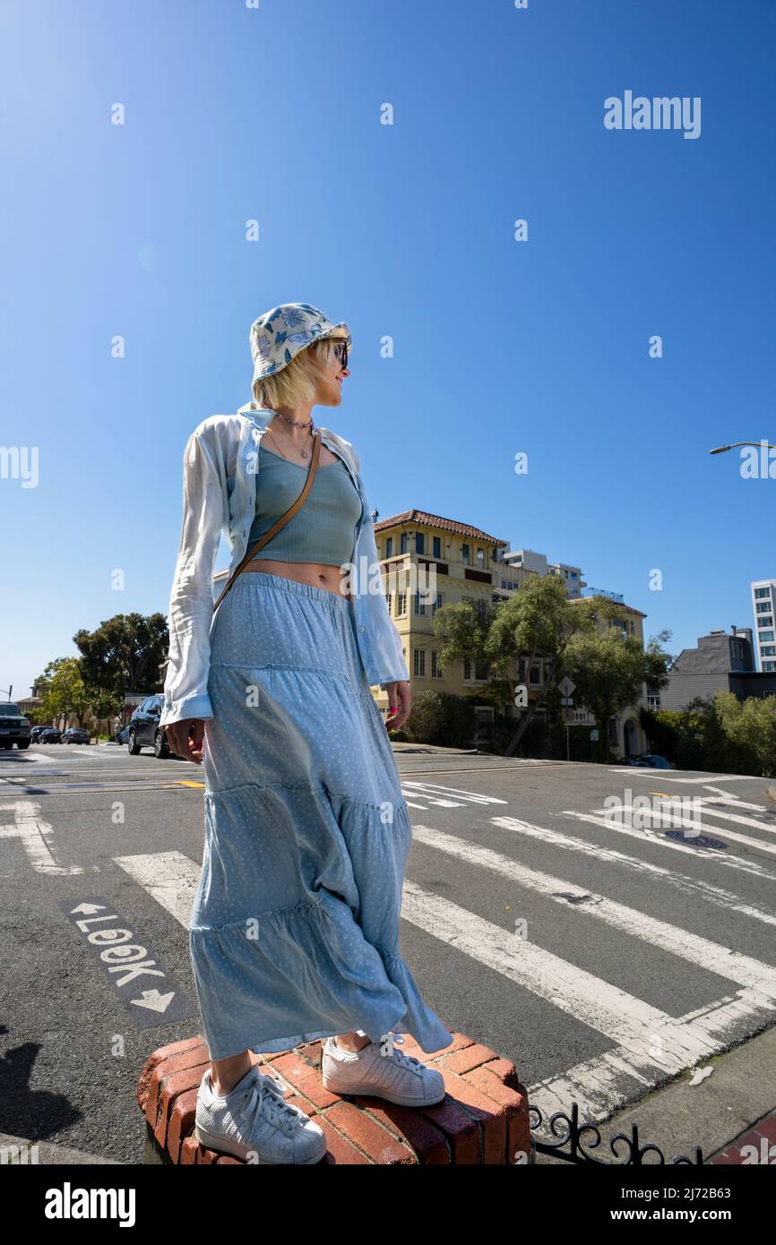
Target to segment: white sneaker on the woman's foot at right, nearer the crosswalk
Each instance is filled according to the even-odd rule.
[[[414,1055],[394,1048],[404,1038],[384,1033],[362,1051],[343,1051],[328,1037],[321,1055],[321,1079],[331,1093],[374,1094],[401,1107],[431,1107],[445,1097],[445,1078]]]

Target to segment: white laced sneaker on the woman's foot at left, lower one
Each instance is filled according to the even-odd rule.
[[[222,1098],[208,1068],[197,1093],[194,1137],[201,1145],[245,1163],[318,1163],[326,1153],[323,1128],[283,1102],[283,1094],[278,1082],[254,1063]]]

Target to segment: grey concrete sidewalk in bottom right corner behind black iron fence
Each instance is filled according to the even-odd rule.
[[[630,1138],[636,1124],[639,1144],[658,1145],[666,1163],[680,1154],[694,1162],[700,1145],[705,1164],[776,1167],[776,1027],[699,1067],[712,1068],[699,1084],[691,1086],[685,1073],[602,1124],[597,1157],[617,1162],[609,1138]],[[618,1153],[622,1159],[622,1145]],[[561,1160],[537,1155],[537,1163],[548,1162]]]

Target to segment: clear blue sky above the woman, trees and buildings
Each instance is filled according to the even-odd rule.
[[[11,0],[0,22],[0,444],[39,448],[37,487],[0,481],[1,687],[167,610],[186,438],[250,398],[250,322],[284,301],[351,325],[343,405],[314,415],[381,517],[578,564],[673,651],[752,625],[776,481],[707,451],[776,439],[771,0]],[[700,137],[605,129],[627,90],[700,96]]]

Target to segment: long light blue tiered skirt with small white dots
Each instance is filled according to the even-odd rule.
[[[353,603],[238,575],[211,630],[189,950],[213,1059],[331,1033],[452,1035],[399,954],[412,828]]]

